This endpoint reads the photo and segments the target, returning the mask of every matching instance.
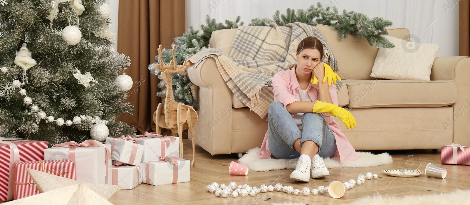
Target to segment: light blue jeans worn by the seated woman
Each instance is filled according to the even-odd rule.
[[[268,148],[271,155],[278,159],[300,157],[294,150],[294,142],[301,138],[300,147],[305,141],[313,141],[318,145],[318,155],[322,158],[332,157],[336,150],[335,135],[325,124],[320,113],[306,112],[302,116],[302,132],[298,129],[289,111],[282,103],[274,102],[268,110]]]

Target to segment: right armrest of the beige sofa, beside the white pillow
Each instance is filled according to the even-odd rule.
[[[454,143],[470,146],[470,57],[436,57],[431,68],[431,80],[454,80],[458,101],[454,118],[442,122],[449,131],[453,129]],[[453,125],[453,126],[452,126]]]

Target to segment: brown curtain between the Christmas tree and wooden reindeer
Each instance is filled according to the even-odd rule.
[[[155,131],[152,116],[161,102],[156,95],[160,80],[150,74],[148,65],[156,62],[158,45],[170,48],[185,27],[185,0],[119,0],[118,52],[131,58],[125,72],[134,85],[126,102],[132,102],[135,111],[118,119],[140,133]]]

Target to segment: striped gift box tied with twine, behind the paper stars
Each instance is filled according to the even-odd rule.
[[[77,180],[75,162],[70,159],[15,162],[13,165],[13,196],[15,199],[41,193],[26,168]]]

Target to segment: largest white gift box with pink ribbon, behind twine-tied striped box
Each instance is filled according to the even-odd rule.
[[[44,159],[69,159],[69,149],[73,148],[52,147],[46,149],[44,150]],[[106,158],[106,151],[105,147],[75,148],[77,181],[94,184],[110,183],[111,173],[107,170],[106,165],[108,165],[108,169],[111,167],[111,159]]]

